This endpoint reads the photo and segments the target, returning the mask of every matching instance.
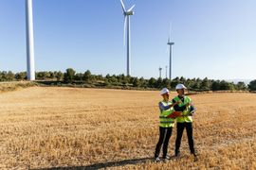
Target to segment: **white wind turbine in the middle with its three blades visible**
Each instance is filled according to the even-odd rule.
[[[125,31],[127,37],[127,76],[131,75],[131,29],[130,29],[130,16],[134,15],[133,8],[135,5],[129,8],[128,10],[125,9],[122,0],[120,0],[121,8],[123,10],[124,15],[124,26],[123,26],[123,44],[125,44]]]

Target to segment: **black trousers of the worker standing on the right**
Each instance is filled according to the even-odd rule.
[[[182,138],[184,128],[186,128],[191,153],[193,154],[194,146],[193,146],[193,138],[192,138],[192,123],[177,123],[176,126],[177,126],[177,136],[176,136],[176,142],[175,142],[175,154],[179,153],[179,147],[181,144],[181,138]]]

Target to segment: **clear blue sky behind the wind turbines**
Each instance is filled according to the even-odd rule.
[[[119,0],[34,0],[36,71],[125,74]],[[249,78],[256,73],[255,0],[124,0],[132,16],[132,76],[168,65],[174,76]],[[0,70],[26,71],[25,0],[0,0]],[[163,69],[165,75],[165,69]]]

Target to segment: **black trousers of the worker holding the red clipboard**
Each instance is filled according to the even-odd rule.
[[[159,156],[163,144],[163,158],[167,156],[168,144],[172,136],[173,127],[159,127],[159,140],[155,147],[155,158]]]

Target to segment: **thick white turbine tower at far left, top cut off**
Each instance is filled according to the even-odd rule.
[[[35,80],[34,63],[34,31],[32,0],[26,0],[26,26],[27,26],[27,80]]]

